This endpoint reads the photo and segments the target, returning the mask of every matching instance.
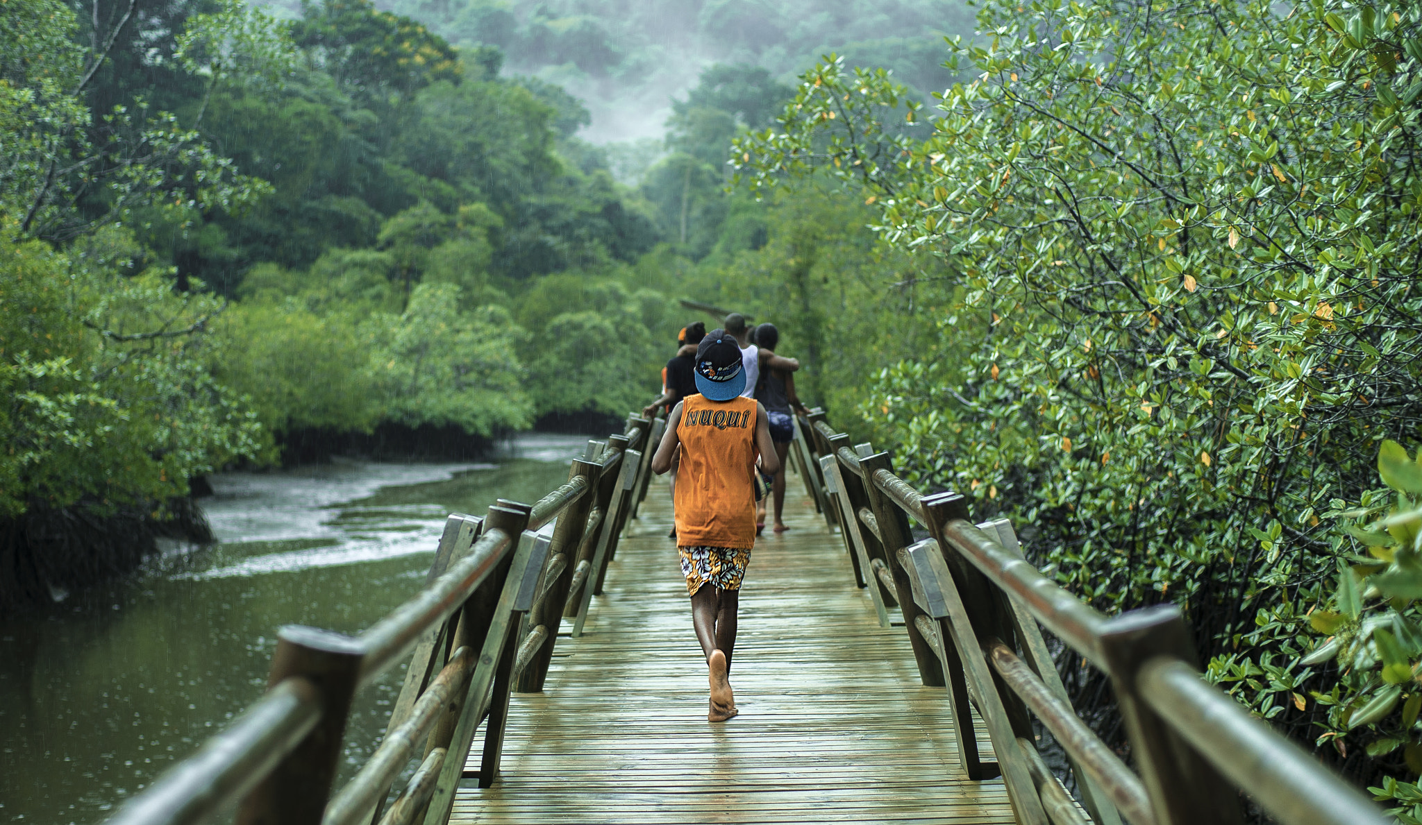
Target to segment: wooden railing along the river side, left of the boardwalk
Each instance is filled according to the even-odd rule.
[[[664,426],[633,416],[624,433],[589,442],[536,504],[451,515],[424,589],[364,633],[282,628],[267,693],[109,824],[192,825],[236,805],[239,825],[444,825],[461,780],[486,788],[498,775],[509,693],[542,689],[562,619],[582,633]],[[333,795],[356,692],[411,650],[384,738]],[[468,771],[481,726],[479,770]]]

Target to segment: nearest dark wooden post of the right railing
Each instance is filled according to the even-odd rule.
[[[1241,824],[1239,792],[1150,710],[1136,689],[1140,667],[1156,656],[1173,656],[1197,667],[1180,608],[1158,605],[1112,616],[1102,629],[1101,646],[1156,825]]]

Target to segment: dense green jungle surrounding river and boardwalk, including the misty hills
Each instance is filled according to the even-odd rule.
[[[0,611],[604,427],[691,298],[1419,824],[1419,98],[1405,3],[6,0]]]

